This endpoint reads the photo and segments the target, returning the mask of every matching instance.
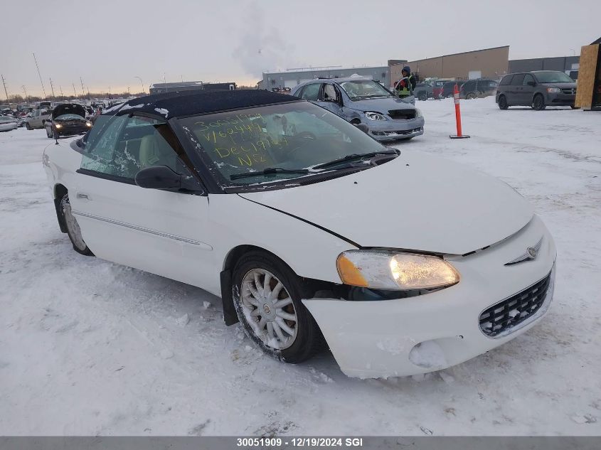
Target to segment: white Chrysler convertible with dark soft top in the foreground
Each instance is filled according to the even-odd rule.
[[[327,345],[350,376],[440,370],[553,297],[553,238],[514,189],[288,95],[140,97],[43,165],[77,252],[221,296],[287,363]]]

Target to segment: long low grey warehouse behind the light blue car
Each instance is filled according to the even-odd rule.
[[[318,68],[290,69],[285,72],[263,73],[260,82],[263,89],[281,91],[284,88],[293,89],[299,84],[313,80],[314,78],[343,78],[353,74],[361,77],[371,78],[381,82],[383,85],[390,84],[388,65],[363,68],[341,68],[340,66],[326,66]]]

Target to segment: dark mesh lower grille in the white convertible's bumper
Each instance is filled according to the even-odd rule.
[[[543,306],[550,283],[551,273],[509,299],[485,309],[479,320],[482,333],[494,338],[531,318]]]

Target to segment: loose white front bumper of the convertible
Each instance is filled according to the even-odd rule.
[[[536,259],[505,266],[543,237]],[[523,291],[551,274],[555,244],[535,215],[526,227],[466,257],[447,257],[461,281],[447,289],[408,299],[344,301],[308,299],[341,370],[351,377],[391,377],[427,373],[463,363],[531,328],[546,314],[553,279],[536,314],[509,334],[486,336],[479,316],[489,306]]]

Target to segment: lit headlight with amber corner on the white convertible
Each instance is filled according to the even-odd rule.
[[[349,250],[336,259],[342,282],[372,289],[434,289],[459,282],[440,257],[377,250]]]

